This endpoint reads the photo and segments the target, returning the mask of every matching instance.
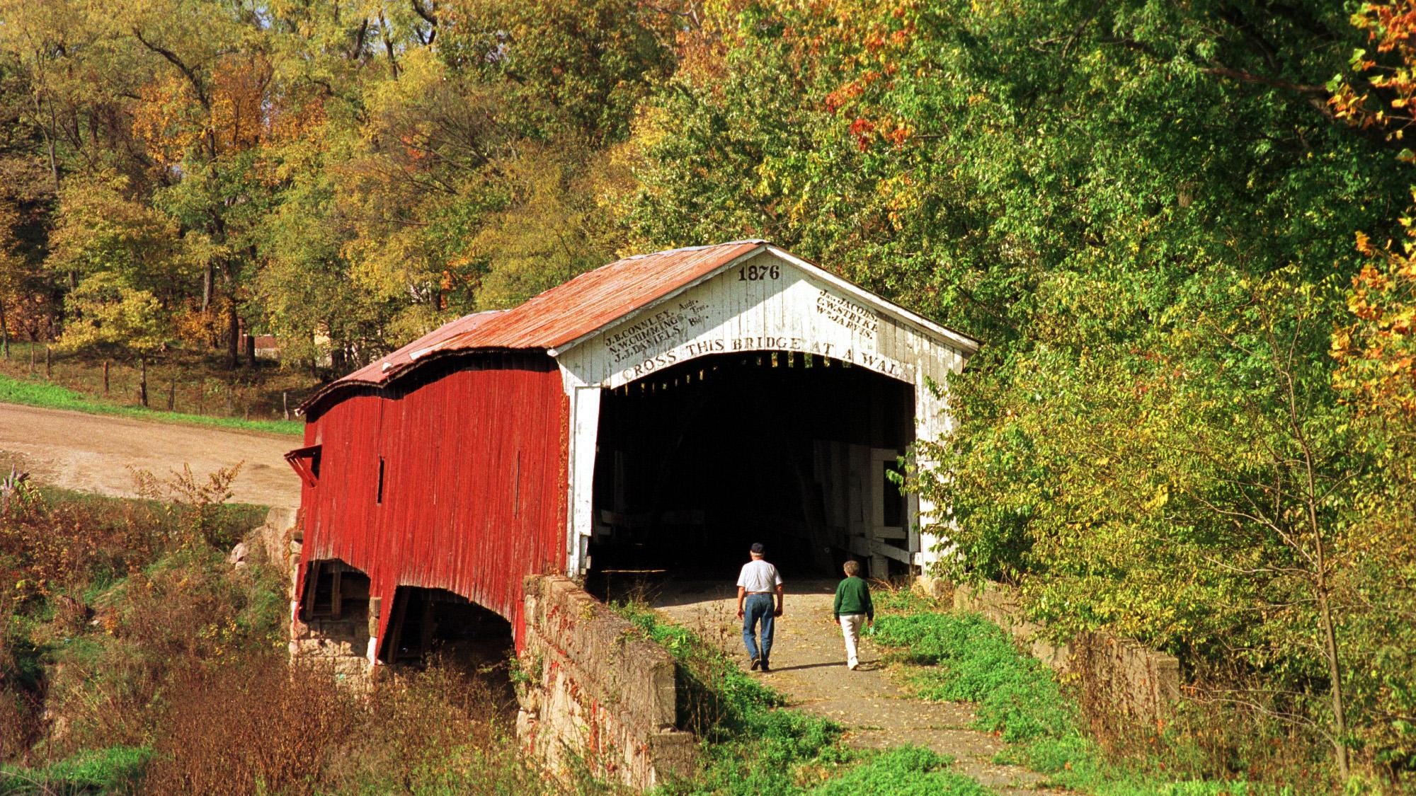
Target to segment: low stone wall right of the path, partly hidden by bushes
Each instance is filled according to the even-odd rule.
[[[1044,627],[1024,619],[1017,591],[987,582],[954,586],[954,608],[981,613],[1049,669],[1079,678],[1086,700],[1100,700],[1124,717],[1161,721],[1180,698],[1180,661],[1110,633],[1083,633],[1066,644],[1046,639]]]

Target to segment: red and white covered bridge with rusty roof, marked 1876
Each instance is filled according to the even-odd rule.
[[[889,473],[977,347],[763,241],[449,323],[302,406],[296,623],[396,663],[489,622],[520,646],[528,574],[731,581],[752,541],[787,578],[909,572],[930,507]]]

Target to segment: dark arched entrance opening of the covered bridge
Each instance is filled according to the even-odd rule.
[[[847,558],[906,574],[915,511],[892,473],[913,439],[912,385],[821,356],[715,354],[607,391],[589,585],[732,582],[756,541],[787,579]]]

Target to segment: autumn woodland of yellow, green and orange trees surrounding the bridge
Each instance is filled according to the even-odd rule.
[[[1413,788],[1410,0],[0,14],[0,331],[327,378],[769,238],[984,340],[912,480],[947,575],[1170,650],[1304,782]]]

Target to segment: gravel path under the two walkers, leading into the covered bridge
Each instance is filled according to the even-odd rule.
[[[787,694],[793,708],[830,717],[847,728],[845,742],[878,749],[916,744],[957,759],[954,771],[1008,796],[1062,793],[1042,789],[1045,778],[1018,766],[991,762],[1005,744],[970,729],[969,704],[926,703],[909,697],[879,661],[867,639],[861,666],[845,669],[841,629],[831,619],[834,581],[787,585],[786,610],[777,619],[772,671],[759,674]],[[731,584],[678,582],[651,599],[674,622],[711,639],[746,667],[742,625],[735,616],[736,588]]]

